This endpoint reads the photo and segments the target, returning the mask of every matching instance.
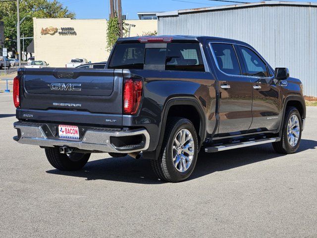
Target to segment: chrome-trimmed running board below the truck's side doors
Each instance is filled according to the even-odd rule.
[[[237,148],[242,148],[242,147],[247,147],[247,146],[261,145],[261,144],[272,143],[272,142],[278,141],[278,139],[279,138],[274,137],[274,138],[250,140],[250,141],[246,141],[246,142],[237,142],[237,143],[230,143],[230,144],[223,144],[223,145],[218,145],[218,146],[206,147],[205,152],[206,153],[213,153],[213,152],[218,152],[218,151],[223,151],[223,150],[231,150],[231,149],[237,149]]]

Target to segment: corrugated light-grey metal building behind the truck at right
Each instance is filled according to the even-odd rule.
[[[161,12],[159,35],[203,35],[244,41],[273,67],[288,67],[317,97],[317,3],[263,1]]]

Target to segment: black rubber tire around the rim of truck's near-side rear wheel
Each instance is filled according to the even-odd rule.
[[[194,142],[194,156],[191,165],[185,172],[176,170],[172,158],[174,138],[181,129],[189,130]],[[179,182],[185,180],[195,169],[199,152],[198,149],[198,137],[193,123],[185,118],[169,118],[167,120],[159,158],[157,160],[151,160],[152,169],[159,179],[168,182]]]

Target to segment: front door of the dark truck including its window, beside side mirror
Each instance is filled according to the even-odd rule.
[[[280,86],[272,84],[273,72],[265,61],[247,46],[238,46],[245,75],[252,83],[252,124],[250,131],[277,129],[280,122]]]

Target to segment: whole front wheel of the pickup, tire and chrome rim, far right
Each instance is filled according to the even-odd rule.
[[[286,109],[282,129],[281,140],[272,143],[274,150],[281,154],[295,153],[299,148],[302,137],[301,115],[295,107]]]

